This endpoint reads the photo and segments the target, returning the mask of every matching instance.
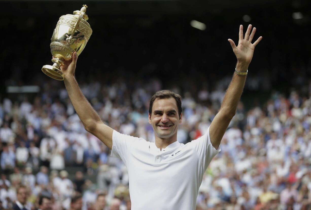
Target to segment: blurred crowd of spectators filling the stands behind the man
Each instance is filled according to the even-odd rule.
[[[2,209],[12,209],[17,200],[27,209],[129,210],[125,165],[85,131],[66,90],[54,84],[46,83],[31,101],[26,96],[20,103],[1,100]],[[172,89],[183,97],[179,142],[206,132],[228,85],[218,84],[213,91],[202,86],[196,95]],[[156,79],[134,88],[124,81],[81,85],[106,124],[147,141],[154,141],[149,99],[161,88]],[[221,152],[203,178],[197,209],[311,207],[311,83],[305,90],[293,90],[288,97],[273,92],[248,111],[240,102]],[[68,174],[67,167],[77,168],[76,173]]]

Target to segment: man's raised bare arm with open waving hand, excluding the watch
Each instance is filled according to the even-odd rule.
[[[252,40],[256,32],[256,28],[253,28],[250,34],[252,25],[249,25],[245,36],[243,38],[243,26],[240,25],[239,30],[239,43],[235,46],[234,41],[228,39],[233,49],[233,52],[238,60],[236,64],[236,70],[239,72],[246,72],[248,65],[250,64],[255,46],[262,40],[260,36],[253,44]],[[214,117],[210,126],[210,137],[212,145],[217,149],[228,125],[235,115],[236,108],[241,98],[246,75],[233,74],[230,85],[225,93],[225,97],[221,103],[219,112]]]

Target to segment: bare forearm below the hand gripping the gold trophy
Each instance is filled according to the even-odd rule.
[[[81,92],[74,76],[64,77],[64,83],[73,107],[86,130],[89,130],[96,122],[101,121],[100,117]]]

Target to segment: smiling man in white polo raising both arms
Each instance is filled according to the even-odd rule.
[[[207,132],[186,145],[177,141],[177,129],[182,122],[181,99],[170,91],[159,91],[150,100],[149,123],[155,142],[127,136],[105,125],[82,94],[74,72],[77,54],[61,66],[69,98],[85,129],[98,137],[112,155],[125,163],[129,175],[129,189],[133,210],[179,209],[194,210],[203,174],[211,159],[220,151],[220,141],[235,115],[243,92],[248,65],[259,37],[253,44],[256,28],[249,25],[243,37],[239,28],[239,43],[229,39],[237,64],[220,110]]]

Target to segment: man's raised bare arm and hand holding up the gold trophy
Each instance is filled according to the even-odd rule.
[[[100,141],[111,149],[113,129],[101,121],[96,111],[81,92],[77,80],[74,77],[77,59],[77,53],[74,52],[72,60],[65,62],[64,65],[61,66],[69,98],[86,131],[99,138]]]

